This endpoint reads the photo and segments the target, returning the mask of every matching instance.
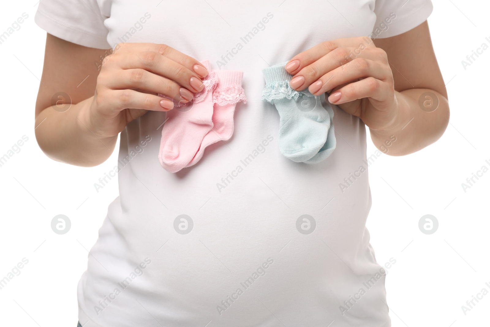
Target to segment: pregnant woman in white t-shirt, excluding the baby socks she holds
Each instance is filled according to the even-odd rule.
[[[48,33],[39,146],[92,167],[121,135],[109,174],[117,173],[119,196],[78,284],[79,324],[389,327],[387,267],[366,229],[366,126],[390,155],[444,132],[447,94],[426,22],[432,3],[234,2],[39,3],[35,21]],[[284,111],[262,99],[278,64],[290,94],[325,94],[336,146],[323,160],[281,152]],[[246,95],[232,137],[191,167],[162,168],[167,118],[224,71],[243,72]],[[288,101],[297,114],[309,100]],[[437,110],[426,108],[432,102]]]

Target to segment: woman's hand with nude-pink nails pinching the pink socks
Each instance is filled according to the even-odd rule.
[[[95,95],[80,108],[78,120],[97,137],[114,137],[148,110],[168,111],[203,89],[207,70],[196,59],[154,43],[122,43],[106,56]]]

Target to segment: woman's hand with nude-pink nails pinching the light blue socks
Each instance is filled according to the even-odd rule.
[[[295,55],[286,71],[294,75],[294,90],[308,88],[315,96],[327,92],[330,103],[372,129],[397,123],[399,105],[387,54],[367,37],[322,42]]]

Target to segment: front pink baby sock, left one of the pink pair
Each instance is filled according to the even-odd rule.
[[[201,61],[209,74],[202,80],[204,89],[194,94],[194,100],[178,104],[167,111],[162,129],[158,159],[165,170],[176,173],[186,167],[199,150],[204,136],[213,128],[213,91],[218,83],[208,60]],[[190,106],[190,109],[187,109]]]

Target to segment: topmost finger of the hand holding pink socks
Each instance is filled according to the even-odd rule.
[[[120,50],[124,50],[126,52],[141,52],[141,51],[154,51],[163,55],[187,69],[193,71],[200,78],[204,78],[208,75],[208,71],[206,68],[196,59],[191,56],[188,56],[180,51],[173,49],[165,44],[157,44],[157,43],[120,43],[116,48]],[[116,50],[117,52],[118,50]]]

